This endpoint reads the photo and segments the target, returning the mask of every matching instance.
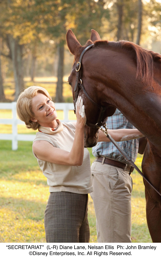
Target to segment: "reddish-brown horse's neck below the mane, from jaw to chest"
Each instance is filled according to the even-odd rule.
[[[99,58],[93,79],[100,81],[101,100],[116,106],[161,151],[161,80],[154,77],[146,88],[136,80],[136,63],[124,53],[110,51]]]

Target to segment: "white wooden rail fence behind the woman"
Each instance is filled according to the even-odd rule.
[[[56,110],[64,111],[64,120],[62,122],[70,121],[68,119],[68,111],[74,109],[73,103],[55,103]],[[12,140],[12,150],[18,149],[18,141],[33,141],[35,135],[33,134],[18,134],[17,125],[25,124],[17,118],[16,102],[12,103],[0,103],[0,109],[12,110],[12,119],[0,119],[0,124],[12,125],[12,134],[0,134],[0,140]],[[72,120],[73,121],[73,120]]]

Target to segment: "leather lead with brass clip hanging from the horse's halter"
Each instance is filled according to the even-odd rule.
[[[147,178],[144,176],[144,174],[139,170],[139,168],[135,165],[135,163],[132,161],[132,159],[127,155],[126,152],[124,152],[124,150],[117,144],[117,142],[112,138],[112,136],[110,136],[110,134],[108,134],[108,128],[106,127],[107,124],[105,123],[103,125],[103,127],[105,128],[102,129],[101,127],[98,127],[101,131],[103,131],[103,133],[106,135],[107,138],[110,139],[110,141],[114,144],[114,146],[116,146],[116,148],[118,149],[118,151],[120,151],[120,153],[124,156],[125,159],[127,159],[127,161],[130,163],[130,165],[132,165],[135,170],[137,170],[137,172],[139,172],[139,174],[147,181],[148,184],[151,185],[151,187],[153,187],[153,189],[161,196],[161,193],[150,183],[150,181],[147,180]]]

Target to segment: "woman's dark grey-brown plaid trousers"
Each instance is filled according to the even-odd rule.
[[[45,210],[45,234],[49,243],[88,243],[88,194],[51,192]]]

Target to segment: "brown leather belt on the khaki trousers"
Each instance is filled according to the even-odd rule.
[[[104,160],[104,161],[103,161]],[[129,172],[129,175],[133,172],[134,170],[134,167],[129,165],[129,164],[126,164],[126,163],[123,163],[123,162],[120,162],[118,160],[114,160],[114,159],[108,159],[106,157],[96,157],[95,158],[95,161],[98,161],[98,162],[101,162],[103,161],[103,163],[105,164],[108,164],[108,165],[111,165],[111,166],[115,166],[115,167],[118,167],[120,169],[123,169],[124,171],[128,171]]]

